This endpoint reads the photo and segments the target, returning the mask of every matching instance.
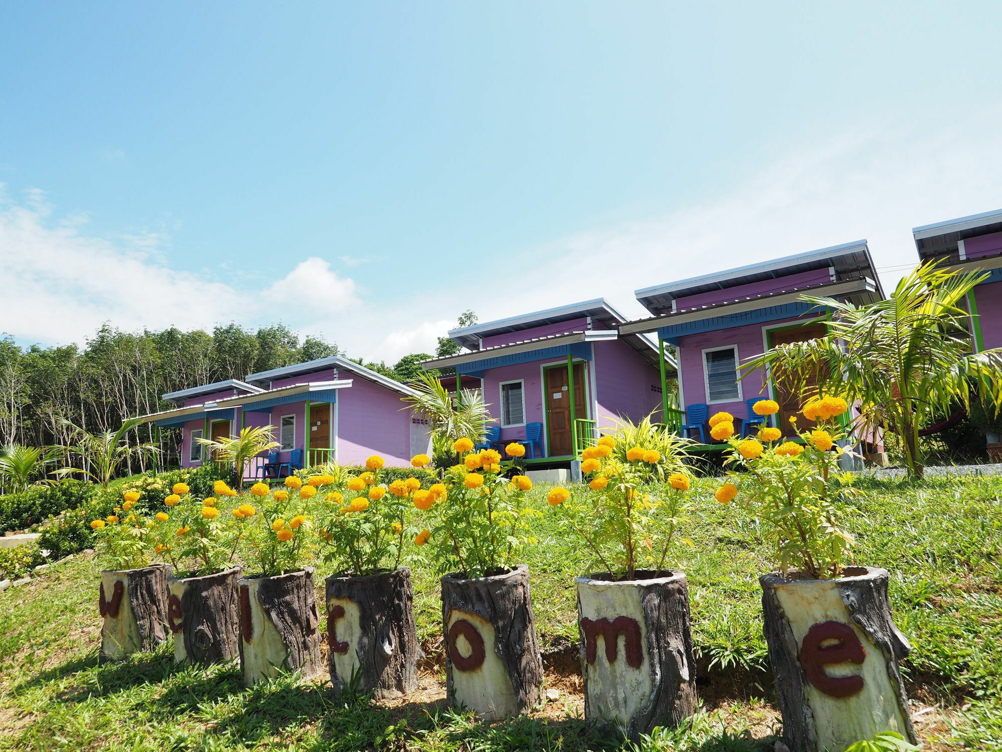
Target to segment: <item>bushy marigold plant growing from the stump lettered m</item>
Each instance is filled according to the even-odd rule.
[[[556,487],[547,494],[567,532],[584,540],[609,575],[634,580],[638,565],[664,568],[685,519],[689,443],[651,423],[649,415],[636,424],[624,421],[581,453],[588,490]],[[666,485],[655,487],[665,479]]]

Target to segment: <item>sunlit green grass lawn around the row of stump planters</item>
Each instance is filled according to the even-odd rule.
[[[699,481],[710,498],[711,480]],[[859,563],[891,571],[904,663],[928,749],[1002,749],[1002,478],[865,481],[851,525]],[[538,489],[538,501],[542,501]],[[758,575],[760,531],[732,506],[703,501],[677,548],[689,580],[703,711],[643,750],[771,750],[771,705]],[[418,629],[430,656],[422,691],[391,706],[335,700],[325,684],[288,677],[247,690],[238,667],[175,669],[154,654],[97,663],[98,563],[77,556],[0,594],[0,749],[578,750],[620,749],[581,719],[573,665],[573,580],[590,570],[548,509],[525,551],[547,684],[560,691],[531,717],[488,725],[442,703],[436,578],[412,561]],[[318,582],[324,575],[318,572]],[[323,611],[323,607],[322,607]],[[931,708],[931,710],[926,710]],[[629,748],[629,747],[626,747]]]

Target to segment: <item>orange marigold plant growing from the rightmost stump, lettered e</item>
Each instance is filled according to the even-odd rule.
[[[773,400],[755,404],[760,415],[773,415],[779,409]],[[783,431],[772,427],[762,428],[759,438],[738,438],[733,435],[733,418],[725,412],[709,420],[713,438],[730,445],[728,463],[746,470],[728,473],[730,482],[717,489],[716,500],[728,503],[736,497],[763,523],[784,576],[796,567],[812,578],[838,577],[853,543],[841,526],[841,516],[842,502],[856,489],[852,475],[839,471],[843,450],[837,443],[845,435],[834,421],[848,409],[839,397],[808,402],[804,416],[817,420],[818,427],[802,433],[800,442],[782,441]]]

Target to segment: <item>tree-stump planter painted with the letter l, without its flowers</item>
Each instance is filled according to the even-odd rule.
[[[313,568],[237,582],[240,600],[240,666],[243,684],[300,671],[312,679],[323,670],[320,615]]]

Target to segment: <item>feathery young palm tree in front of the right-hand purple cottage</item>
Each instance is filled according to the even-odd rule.
[[[986,275],[960,274],[926,264],[902,278],[887,300],[865,306],[804,296],[831,309],[826,337],[775,347],[741,367],[768,369],[795,393],[842,394],[860,406],[857,426],[878,427],[902,440],[908,473],[922,475],[919,432],[936,415],[972,400],[1002,408],[1002,349],[971,352],[968,314],[960,303]]]

